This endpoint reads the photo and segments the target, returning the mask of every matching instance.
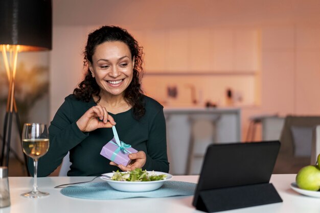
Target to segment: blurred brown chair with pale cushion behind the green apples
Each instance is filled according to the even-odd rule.
[[[320,116],[286,116],[273,173],[298,173],[311,163],[312,134],[317,125],[320,125]]]

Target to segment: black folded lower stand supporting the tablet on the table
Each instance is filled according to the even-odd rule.
[[[196,209],[216,212],[282,202],[272,183],[259,183],[199,192]]]

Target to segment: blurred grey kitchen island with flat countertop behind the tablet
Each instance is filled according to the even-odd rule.
[[[166,108],[164,109],[167,125],[167,145],[170,162],[170,173],[185,175],[187,171],[188,153],[191,134],[195,129],[191,126],[190,118],[198,119],[216,116],[216,141],[210,137],[195,137],[195,153],[203,155],[211,143],[238,143],[241,140],[241,111],[239,108]],[[199,123],[198,129],[205,130],[208,123]],[[197,130],[196,130],[197,131]],[[202,158],[194,158],[192,174],[199,174]]]

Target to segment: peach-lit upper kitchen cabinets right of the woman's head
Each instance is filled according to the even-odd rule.
[[[135,32],[147,74],[242,74],[259,70],[260,33],[253,28]]]

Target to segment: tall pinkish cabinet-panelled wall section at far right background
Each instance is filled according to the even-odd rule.
[[[263,29],[262,110],[320,113],[319,30],[312,23]]]

